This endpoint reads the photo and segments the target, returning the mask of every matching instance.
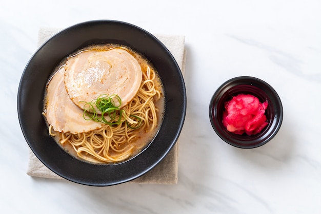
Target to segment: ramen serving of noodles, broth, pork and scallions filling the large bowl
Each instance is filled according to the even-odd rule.
[[[49,134],[92,163],[125,161],[148,145],[162,122],[164,92],[151,63],[131,49],[97,45],[64,59],[47,84]]]

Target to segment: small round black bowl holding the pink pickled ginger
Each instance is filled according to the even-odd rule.
[[[268,125],[255,135],[238,135],[223,125],[225,102],[238,94],[251,94],[260,102],[268,101],[265,111]],[[210,121],[216,134],[225,142],[239,148],[255,148],[269,142],[278,132],[283,120],[283,107],[275,90],[267,82],[249,76],[232,78],[216,90],[209,106]]]

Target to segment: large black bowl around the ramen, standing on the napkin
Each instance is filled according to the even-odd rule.
[[[67,154],[48,134],[43,100],[48,77],[69,54],[89,45],[114,43],[143,54],[156,68],[165,91],[163,123],[144,151],[118,164],[91,164]],[[110,186],[138,178],[176,143],[186,114],[182,73],[169,50],[149,32],[124,22],[94,20],[69,27],[45,42],[28,62],[18,89],[18,118],[35,156],[55,174],[75,183]]]

